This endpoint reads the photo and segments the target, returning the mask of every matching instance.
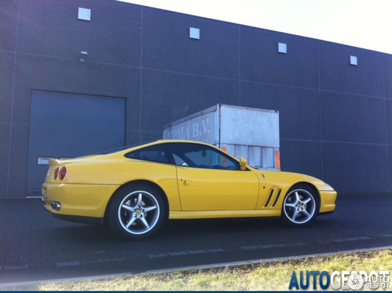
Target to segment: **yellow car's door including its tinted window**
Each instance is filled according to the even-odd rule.
[[[254,210],[259,180],[225,153],[197,143],[168,143],[183,211]]]

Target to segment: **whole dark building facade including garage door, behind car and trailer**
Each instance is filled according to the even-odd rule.
[[[161,139],[218,103],[279,110],[282,171],[391,192],[390,54],[110,0],[0,2],[0,198],[40,196],[45,157]]]

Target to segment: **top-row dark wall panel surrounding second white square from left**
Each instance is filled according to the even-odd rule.
[[[189,28],[200,29],[200,40]],[[239,78],[238,25],[143,8],[144,68]]]

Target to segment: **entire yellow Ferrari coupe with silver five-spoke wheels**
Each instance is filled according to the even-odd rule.
[[[55,218],[107,222],[126,239],[165,218],[280,217],[305,226],[332,213],[336,192],[303,174],[258,170],[206,143],[160,140],[76,159],[52,159],[42,185]]]

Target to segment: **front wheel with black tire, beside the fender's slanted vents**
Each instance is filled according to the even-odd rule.
[[[310,200],[306,204],[303,204],[308,199]],[[320,201],[318,194],[305,184],[295,184],[285,195],[280,219],[286,226],[307,226],[316,220],[319,209]]]

